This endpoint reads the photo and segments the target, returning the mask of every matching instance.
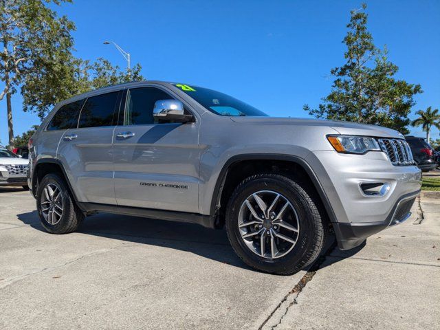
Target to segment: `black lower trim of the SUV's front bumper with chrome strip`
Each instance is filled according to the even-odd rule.
[[[393,210],[384,221],[364,222],[364,223],[333,223],[338,240],[338,247],[341,250],[350,250],[362,244],[367,237],[377,234],[382,230],[398,225],[406,221],[411,215],[411,207],[415,199],[419,195],[419,191],[402,196]]]

